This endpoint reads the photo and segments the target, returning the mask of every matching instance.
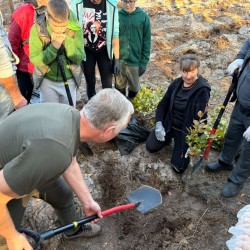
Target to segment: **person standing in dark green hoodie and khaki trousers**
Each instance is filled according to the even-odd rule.
[[[139,77],[147,68],[151,51],[150,19],[145,11],[136,7],[136,0],[122,0],[119,11],[120,75],[116,88],[133,99],[140,90]]]

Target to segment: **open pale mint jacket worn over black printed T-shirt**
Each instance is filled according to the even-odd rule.
[[[106,1],[107,8],[107,31],[106,31],[106,45],[109,59],[113,59],[113,38],[119,37],[119,19],[118,19],[118,8],[117,0],[102,0]],[[84,27],[83,20],[83,0],[72,0],[70,9],[77,16],[81,27]]]

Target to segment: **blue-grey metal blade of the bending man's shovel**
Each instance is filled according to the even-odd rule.
[[[136,209],[141,213],[147,213],[162,203],[162,196],[159,190],[144,185],[129,194],[128,200],[131,203],[139,203]]]

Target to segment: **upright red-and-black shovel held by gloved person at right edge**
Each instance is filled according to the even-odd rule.
[[[224,114],[224,111],[226,109],[226,106],[229,102],[229,99],[233,93],[233,91],[235,90],[236,88],[236,85],[237,85],[237,81],[238,81],[238,78],[237,78],[237,73],[238,71],[235,71],[234,74],[233,74],[233,80],[232,80],[232,83],[228,89],[228,92],[227,92],[227,95],[225,97],[225,100],[221,106],[221,109],[220,109],[220,112],[215,120],[215,123],[213,125],[213,128],[212,130],[210,131],[210,134],[209,134],[209,138],[207,139],[207,146],[205,148],[205,151],[203,153],[203,156],[200,158],[200,160],[194,165],[193,167],[193,170],[192,170],[192,173],[191,175],[195,174],[204,164],[204,162],[207,160],[208,158],[208,155],[210,153],[210,150],[211,150],[211,146],[212,146],[212,141],[213,141],[213,135],[216,133],[216,130],[220,124],[220,120],[222,118],[222,115]]]

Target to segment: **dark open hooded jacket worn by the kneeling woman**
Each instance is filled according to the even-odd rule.
[[[172,126],[173,104],[176,92],[181,88],[183,83],[182,77],[175,79],[169,86],[166,94],[160,101],[156,110],[156,122],[161,121],[166,132],[169,132]],[[185,134],[188,133],[187,128],[192,126],[193,120],[199,120],[198,112],[204,113],[202,119],[207,118],[206,107],[210,98],[211,87],[208,82],[199,76],[194,86],[196,89],[193,95],[189,98],[184,112],[183,126],[182,126],[182,147],[186,143]]]

